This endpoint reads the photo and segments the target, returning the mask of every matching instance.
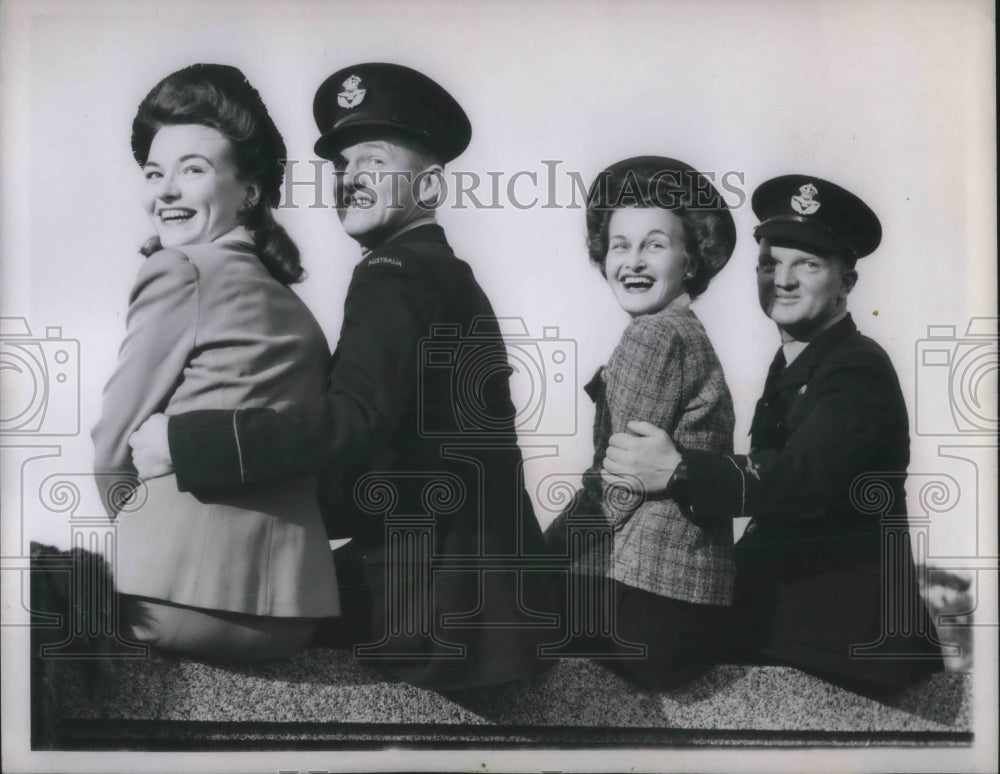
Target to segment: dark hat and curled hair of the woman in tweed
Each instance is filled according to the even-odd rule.
[[[684,290],[691,298],[705,292],[736,247],[732,213],[705,175],[676,159],[640,156],[605,169],[587,195],[587,249],[602,273],[608,223],[623,207],[659,207],[680,218],[690,261]]]

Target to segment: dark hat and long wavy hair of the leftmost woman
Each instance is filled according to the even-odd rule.
[[[242,220],[253,234],[260,260],[279,282],[300,281],[305,272],[299,249],[271,212],[280,201],[285,142],[246,76],[228,65],[196,64],[156,84],[132,121],[132,155],[140,166],[148,159],[156,133],[176,124],[212,127],[232,143],[238,174],[258,180],[261,187],[260,199]],[[154,238],[142,253],[148,256],[159,249]]]

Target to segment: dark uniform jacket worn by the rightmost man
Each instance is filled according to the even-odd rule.
[[[736,594],[767,617],[765,653],[847,677],[936,666],[933,632],[883,636],[884,525],[855,487],[867,480],[888,493],[891,514],[905,515],[909,424],[892,363],[850,316],[782,363],[776,358],[757,403],[748,455],[684,455],[693,517],[753,517],[735,547]],[[905,616],[897,628],[917,630],[926,610],[902,549],[891,570],[898,585],[890,584]],[[852,645],[883,641],[886,653],[927,658],[850,657]]]

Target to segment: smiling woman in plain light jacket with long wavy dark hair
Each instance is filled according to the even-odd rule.
[[[329,349],[288,287],[303,275],[299,252],[271,211],[285,144],[242,72],[198,64],[142,101],[132,152],[155,236],[92,432],[117,519],[125,635],[194,656],[289,655],[339,612],[313,478],[197,495],[174,476],[136,488],[128,444],[154,413],[323,394]]]

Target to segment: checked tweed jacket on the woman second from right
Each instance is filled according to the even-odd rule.
[[[594,463],[585,486],[593,489],[600,481],[608,439],[627,432],[630,420],[665,430],[682,450],[732,451],[732,397],[689,303],[682,295],[656,314],[633,319],[589,385],[596,415]],[[610,577],[685,602],[732,601],[730,525],[699,526],[673,498],[623,499],[601,487],[600,502],[615,529]]]

